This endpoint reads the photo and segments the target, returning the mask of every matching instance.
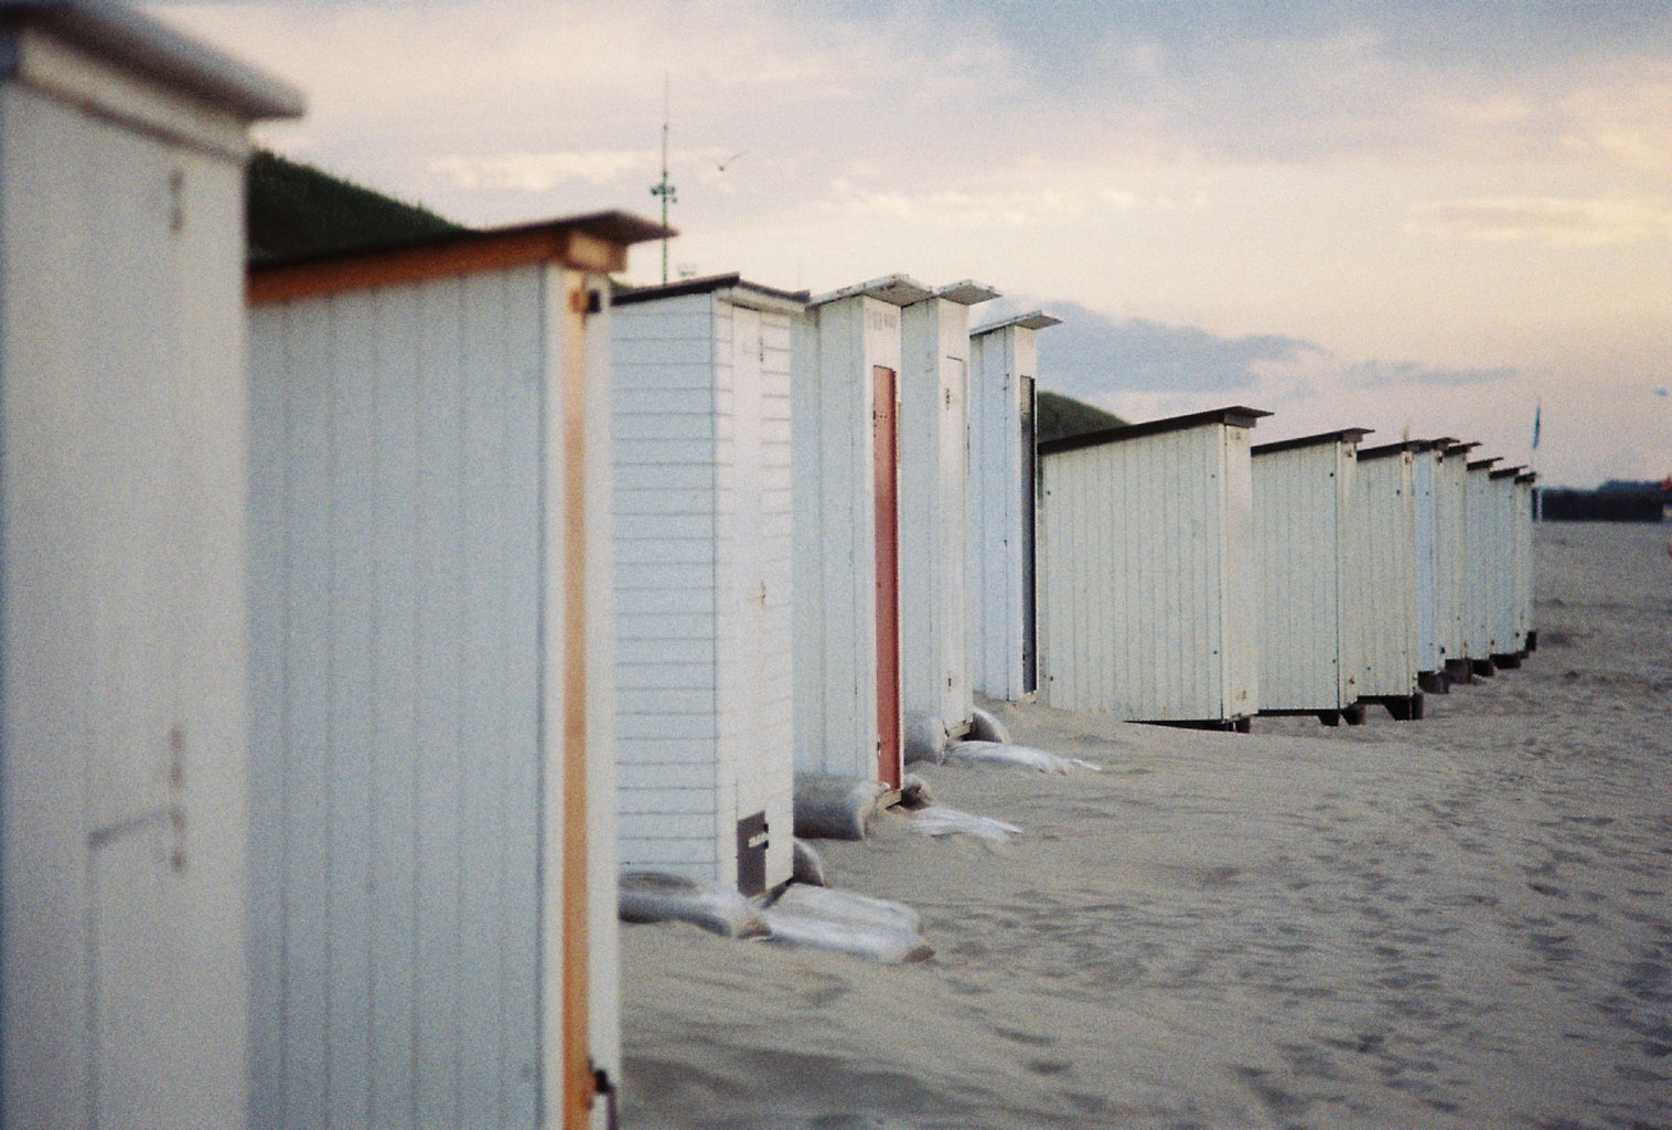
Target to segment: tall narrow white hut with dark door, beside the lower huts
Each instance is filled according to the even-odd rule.
[[[973,690],[1022,700],[1038,681],[1035,335],[1038,310],[970,335],[970,665]]]

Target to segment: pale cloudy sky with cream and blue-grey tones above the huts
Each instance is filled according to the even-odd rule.
[[[261,144],[466,224],[659,219],[665,110],[672,276],[970,278],[1130,420],[1672,475],[1672,0],[147,10],[306,94]]]

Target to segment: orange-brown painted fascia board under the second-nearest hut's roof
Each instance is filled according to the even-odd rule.
[[[426,283],[450,275],[558,263],[582,271],[622,271],[627,244],[557,224],[466,233],[443,243],[385,248],[303,263],[252,268],[244,303],[263,306],[378,286]]]

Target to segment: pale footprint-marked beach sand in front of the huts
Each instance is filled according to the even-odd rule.
[[[624,1123],[1672,1125],[1672,561],[1537,556],[1540,650],[1423,722],[1007,708],[1105,772],[933,767],[1023,835],[819,844],[931,961],[624,927]]]

